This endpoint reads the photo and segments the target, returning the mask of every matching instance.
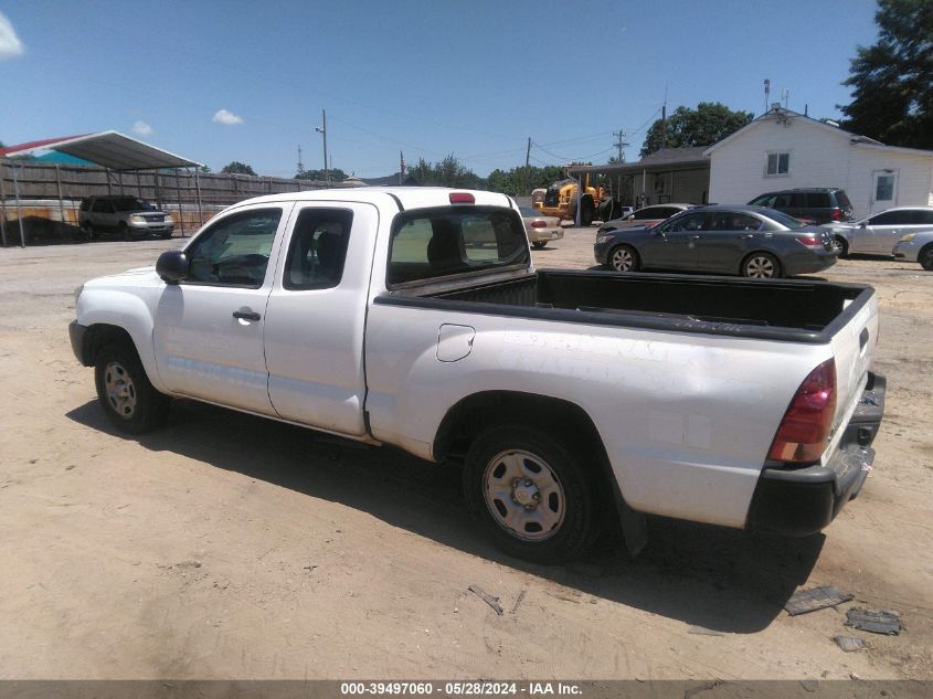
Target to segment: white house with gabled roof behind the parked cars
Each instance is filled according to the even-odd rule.
[[[856,219],[891,206],[933,205],[933,151],[886,146],[775,105],[713,144],[709,200],[745,203],[765,192],[840,187]]]

